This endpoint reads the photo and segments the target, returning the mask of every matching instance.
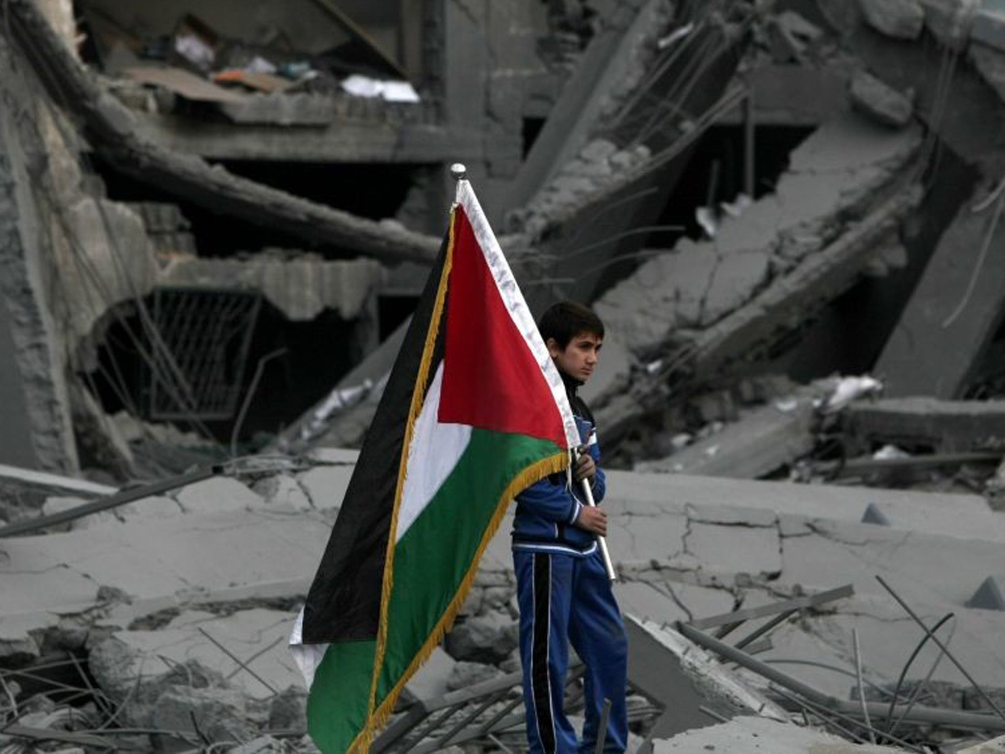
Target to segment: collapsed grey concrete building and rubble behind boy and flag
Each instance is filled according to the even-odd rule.
[[[633,746],[1001,750],[995,3],[5,11],[0,750],[311,750],[284,639],[455,161],[608,327]],[[379,750],[525,746],[507,531]]]

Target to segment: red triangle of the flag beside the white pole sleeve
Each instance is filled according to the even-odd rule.
[[[511,317],[459,206],[453,216],[438,418],[566,446],[562,414],[551,387]]]

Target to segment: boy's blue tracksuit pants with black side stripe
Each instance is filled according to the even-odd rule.
[[[611,700],[604,752],[621,754],[628,741],[628,643],[600,553],[515,550],[513,558],[531,754],[593,754],[604,699]],[[586,664],[579,744],[563,709],[569,642]]]

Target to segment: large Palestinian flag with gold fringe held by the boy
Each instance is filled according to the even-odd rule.
[[[290,645],[325,754],[365,752],[510,500],[568,467],[565,388],[467,181]]]

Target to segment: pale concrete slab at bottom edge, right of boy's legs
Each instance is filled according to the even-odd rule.
[[[763,717],[740,717],[728,723],[655,740],[653,754],[708,754],[709,751],[764,752],[768,754],[895,754],[876,744],[858,744],[823,733]]]

